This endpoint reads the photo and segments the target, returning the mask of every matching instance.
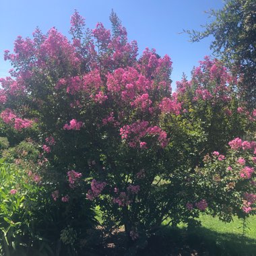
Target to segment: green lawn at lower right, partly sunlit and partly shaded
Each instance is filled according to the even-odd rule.
[[[194,230],[187,231],[183,225],[162,230],[141,255],[256,256],[256,216],[248,219],[245,236],[238,218],[224,223],[202,215],[199,220],[202,226]]]

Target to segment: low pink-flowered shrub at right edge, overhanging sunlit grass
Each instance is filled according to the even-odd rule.
[[[256,143],[237,137],[228,144],[224,160],[219,160],[216,152],[213,152],[212,156],[205,157],[204,166],[197,168],[191,176],[191,181],[196,182],[199,185],[197,189],[200,189],[195,189],[195,193],[203,194],[207,201],[207,211],[225,221],[234,215],[245,218],[253,214],[256,206]]]

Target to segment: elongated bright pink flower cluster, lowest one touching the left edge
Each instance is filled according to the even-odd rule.
[[[21,129],[29,128],[32,126],[33,121],[28,119],[21,119],[17,117],[9,108],[6,108],[1,113],[1,119],[9,125],[13,125],[14,129],[20,131]]]

